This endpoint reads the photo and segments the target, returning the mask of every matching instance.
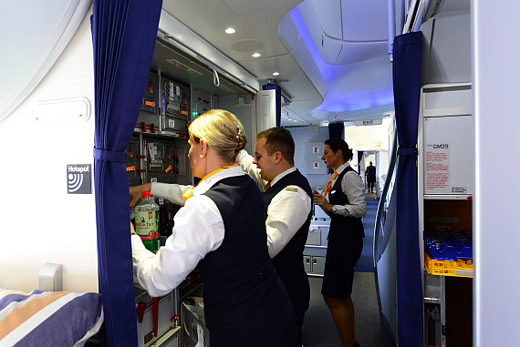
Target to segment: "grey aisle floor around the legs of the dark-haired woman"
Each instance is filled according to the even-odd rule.
[[[311,294],[305,315],[304,346],[338,347],[338,331],[321,296],[321,282],[320,277],[309,277]],[[356,338],[360,347],[394,347],[389,333],[380,324],[373,272],[355,272],[352,301],[356,312]]]

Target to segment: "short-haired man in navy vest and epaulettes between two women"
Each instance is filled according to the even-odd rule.
[[[255,158],[244,150],[236,161],[264,190],[267,248],[278,276],[293,303],[301,333],[310,299],[303,250],[312,216],[312,190],[294,164],[295,142],[286,128],[256,135]]]

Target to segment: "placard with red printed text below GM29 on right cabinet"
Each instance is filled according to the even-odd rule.
[[[426,144],[424,164],[426,166],[427,193],[443,193],[450,187],[450,144]]]

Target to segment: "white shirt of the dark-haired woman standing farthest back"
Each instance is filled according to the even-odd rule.
[[[336,171],[338,174],[348,168],[350,164],[345,163],[341,165]],[[337,179],[332,179],[332,186]],[[334,214],[341,216],[363,217],[367,214],[367,199],[365,198],[365,184],[359,177],[356,171],[349,171],[341,179],[341,191],[348,198],[349,205],[334,205],[336,211]],[[332,212],[329,212],[330,215]]]

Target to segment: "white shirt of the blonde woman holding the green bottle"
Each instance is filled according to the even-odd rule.
[[[202,194],[221,179],[241,175],[244,170],[240,167],[226,168],[193,188],[192,198],[173,217],[172,236],[157,254],[147,250],[138,235],[131,236],[134,276],[151,296],[172,291],[207,253],[220,247],[224,240],[224,220],[213,200]],[[180,189],[179,185],[151,184],[154,196],[175,203],[179,202]]]

